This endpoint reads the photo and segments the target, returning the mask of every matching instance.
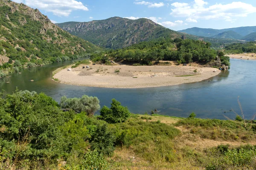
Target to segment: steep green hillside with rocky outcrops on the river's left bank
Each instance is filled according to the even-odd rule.
[[[38,9],[0,0],[0,64],[9,61],[1,67],[12,67],[10,63],[14,60],[18,61],[17,65],[29,61],[30,65],[41,65],[99,50],[98,46],[53,24]]]

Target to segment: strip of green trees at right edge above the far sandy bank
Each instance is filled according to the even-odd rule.
[[[256,53],[256,43],[251,41],[247,43],[233,43],[225,46],[227,53]]]

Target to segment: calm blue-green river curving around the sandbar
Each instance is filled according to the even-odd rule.
[[[195,112],[197,117],[217,119],[226,119],[224,116],[233,119],[236,114],[231,110],[240,113],[237,102],[240,96],[244,114],[250,119],[256,113],[256,61],[231,59],[230,62],[230,70],[212,77],[210,82],[205,80],[156,88],[114,89],[64,85],[52,81],[52,71],[70,64],[69,61],[12,74],[11,77],[0,79],[0,89],[4,89],[5,94],[12,93],[16,87],[19,90],[44,92],[58,102],[61,96],[81,97],[86,94],[97,96],[101,106],[110,106],[111,99],[115,98],[128,106],[132,113],[150,113],[157,109],[159,114],[169,116],[187,117]]]

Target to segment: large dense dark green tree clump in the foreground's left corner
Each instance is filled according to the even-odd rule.
[[[73,113],[63,113],[52,98],[29,91],[15,91],[0,103],[0,147],[9,150],[5,159],[60,156],[63,149],[58,127],[72,119]]]

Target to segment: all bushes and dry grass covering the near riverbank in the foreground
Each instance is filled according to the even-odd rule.
[[[101,116],[63,111],[61,105],[43,93],[29,91],[16,90],[0,98],[1,169],[218,170],[256,166],[256,147],[252,145],[200,147],[200,137],[217,143],[219,139],[230,144],[249,142],[248,136],[252,140],[256,136],[254,121],[246,121],[246,131],[240,121],[197,119],[195,113],[186,119],[131,114],[115,99],[111,108],[102,108]],[[195,142],[196,150],[184,146],[184,140]]]

